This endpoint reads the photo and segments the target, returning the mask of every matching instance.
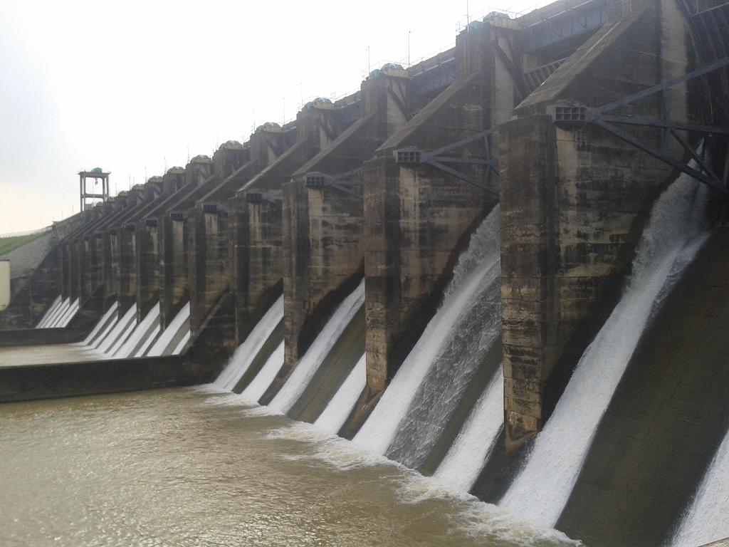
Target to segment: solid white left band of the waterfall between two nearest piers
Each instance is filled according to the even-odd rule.
[[[498,241],[499,207],[497,206],[474,234],[468,251],[464,252],[462,259],[459,258],[459,264],[453,272],[453,280],[445,292],[443,305],[430,320],[372,414],[354,437],[355,443],[376,454],[386,453],[399,424],[408,414],[413,400],[416,400],[418,389],[429,376],[437,358],[447,349],[448,344],[459,336],[454,326],[461,317],[467,316],[478,300],[477,295],[495,282],[499,274]],[[483,321],[491,322],[491,319],[494,319],[496,324],[499,323],[498,314],[491,317],[493,315],[491,311],[487,315]],[[488,345],[493,344],[497,335],[498,326],[495,326],[482,345],[488,349]],[[453,393],[458,392],[464,385],[456,386]],[[443,401],[445,402],[445,398]],[[426,408],[431,403],[426,394],[422,397],[421,403],[418,404],[421,408]],[[443,408],[441,407],[439,411],[443,411]],[[429,428],[428,444],[432,443],[431,437],[436,434],[434,428]]]

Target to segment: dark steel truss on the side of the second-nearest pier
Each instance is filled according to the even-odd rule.
[[[445,171],[445,173],[453,175],[457,179],[467,182],[469,185],[473,185],[492,195],[498,196],[499,191],[491,185],[493,177],[499,176],[499,160],[491,157],[491,146],[496,144],[496,140],[498,138],[498,129],[491,128],[469,136],[467,139],[462,139],[461,141],[454,142],[453,144],[447,144],[446,146],[433,150],[432,152],[423,152],[416,147],[405,147],[394,150],[392,155],[394,155],[397,163],[425,163],[429,166],[440,169],[440,171]],[[445,153],[452,152],[456,148],[476,141],[483,141],[483,158],[460,158],[457,156],[443,155]],[[448,164],[456,166],[485,166],[486,180],[477,179],[463,171],[459,171],[456,168],[448,166]]]

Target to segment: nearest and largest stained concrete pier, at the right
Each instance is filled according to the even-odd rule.
[[[607,104],[685,74],[688,31],[677,9],[671,1],[613,7],[609,22],[499,127],[510,448],[541,429],[617,301],[653,201],[676,176],[601,128],[555,123],[555,109]],[[675,120],[690,117],[686,93],[667,95]],[[633,106],[634,115],[655,115],[656,100]]]

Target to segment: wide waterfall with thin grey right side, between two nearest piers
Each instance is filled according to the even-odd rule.
[[[443,305],[354,437],[356,443],[377,454],[391,447],[389,454],[411,465],[427,456],[458,396],[498,338],[499,259],[496,206],[459,257]],[[451,368],[454,362],[457,371]],[[393,444],[397,435],[400,440]]]

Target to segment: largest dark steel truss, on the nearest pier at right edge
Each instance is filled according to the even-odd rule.
[[[729,193],[729,145],[724,170],[722,174],[719,175],[714,172],[714,168],[712,168],[710,160],[707,160],[706,155],[697,154],[687,140],[678,133],[678,131],[700,133],[705,137],[706,142],[709,139],[716,138],[718,135],[729,136],[729,128],[719,125],[700,125],[671,120],[671,115],[667,108],[669,89],[688,82],[691,79],[703,77],[705,74],[709,74],[709,72],[723,69],[726,66],[729,66],[729,57],[708,63],[700,69],[691,71],[682,77],[654,85],[652,88],[644,89],[638,93],[621,98],[618,101],[613,101],[612,103],[605,104],[604,106],[598,106],[596,108],[588,108],[587,106],[575,104],[557,104],[554,107],[553,117],[555,123],[582,122],[599,125],[599,127],[603,128],[605,131],[617,136],[618,139],[622,139],[623,141],[628,142],[628,144],[632,144],[634,147],[646,152],[653,158],[663,161],[663,163],[667,163],[669,166],[679,169],[687,175],[693,176],[693,178],[715,188],[716,190],[720,190],[723,193]],[[662,98],[660,120],[647,117],[615,115],[611,113],[615,112],[617,109],[629,106],[634,104],[636,101],[654,96],[658,93],[661,94]],[[638,137],[623,131],[623,129],[617,127],[616,124],[660,129],[663,132],[663,144],[660,150],[656,150],[655,147],[650,146],[650,144],[645,143]],[[676,141],[691,155],[697,168],[687,166],[684,163],[674,160],[670,155],[668,155],[668,144],[671,140]],[[706,147],[704,147],[704,150],[706,150]]]

